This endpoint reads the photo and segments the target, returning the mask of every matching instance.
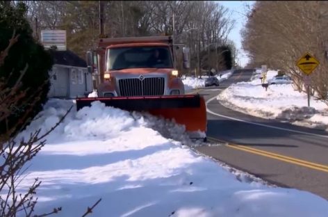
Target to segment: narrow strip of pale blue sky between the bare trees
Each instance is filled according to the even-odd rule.
[[[245,66],[248,62],[248,58],[241,49],[241,36],[240,30],[243,29],[247,18],[245,17],[246,5],[252,6],[255,1],[217,1],[225,8],[229,8],[232,13],[232,19],[236,20],[236,24],[233,30],[230,32],[228,38],[235,42],[235,45],[238,49],[238,57],[240,58],[240,65]]]

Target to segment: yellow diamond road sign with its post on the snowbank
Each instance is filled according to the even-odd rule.
[[[300,68],[300,70],[302,70],[302,72],[305,74],[304,84],[306,85],[309,107],[310,107],[310,85],[311,85],[311,78],[309,76],[319,64],[320,64],[319,61],[309,53],[304,54],[296,63],[296,65]]]

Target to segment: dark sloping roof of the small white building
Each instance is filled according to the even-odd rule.
[[[83,58],[77,56],[70,50],[56,51],[49,50],[51,56],[54,58],[54,64],[76,66],[76,67],[87,67],[87,63]]]

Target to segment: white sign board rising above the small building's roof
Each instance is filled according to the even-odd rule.
[[[66,30],[42,30],[41,42],[46,49],[56,46],[58,51],[65,51]]]

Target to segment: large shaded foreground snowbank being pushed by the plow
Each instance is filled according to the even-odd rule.
[[[49,129],[70,105],[51,99],[19,137]],[[90,216],[327,216],[327,200],[236,176],[182,145],[184,135],[181,126],[95,102],[47,136],[17,192],[39,177],[36,214],[63,207],[56,216],[67,217],[99,198]]]

